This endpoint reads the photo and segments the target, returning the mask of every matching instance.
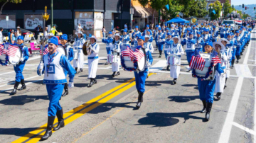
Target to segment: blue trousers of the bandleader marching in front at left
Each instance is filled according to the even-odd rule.
[[[61,110],[60,98],[63,93],[64,84],[46,84],[48,97],[50,100],[48,116],[55,116],[57,110]]]

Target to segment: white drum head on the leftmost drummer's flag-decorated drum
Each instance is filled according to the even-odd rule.
[[[9,45],[8,50],[9,62],[11,64],[18,64],[22,58],[21,48],[18,45]]]

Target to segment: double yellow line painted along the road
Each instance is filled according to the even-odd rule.
[[[151,76],[152,74],[153,73],[150,73],[149,76]],[[93,98],[92,100],[88,101],[87,103],[84,103],[84,104],[78,106],[77,108],[74,108],[73,110],[68,111],[68,113],[65,113],[63,115],[63,118],[65,119],[65,125],[68,125],[70,122],[73,122],[74,120],[80,118],[82,115],[84,115],[85,113],[88,113],[90,110],[97,108],[99,105],[102,105],[103,103],[106,103],[107,101],[110,101],[115,96],[118,96],[120,93],[131,88],[132,86],[135,85],[134,80],[135,80],[135,78],[130,79],[129,81],[125,82],[124,84],[121,84],[115,88],[112,88],[110,91],[107,91],[107,92],[103,93],[102,95],[97,96],[96,98]],[[57,122],[58,122],[58,119],[55,118],[54,124]],[[29,132],[27,135],[24,135],[23,137],[16,139],[13,143],[38,142],[41,139],[41,137],[43,136],[44,130],[46,130],[46,127],[47,127],[47,123],[45,125],[42,125],[41,127],[38,127],[36,130]]]

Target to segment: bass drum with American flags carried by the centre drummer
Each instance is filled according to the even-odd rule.
[[[144,71],[146,67],[146,51],[141,46],[121,46],[121,64],[127,71]]]

